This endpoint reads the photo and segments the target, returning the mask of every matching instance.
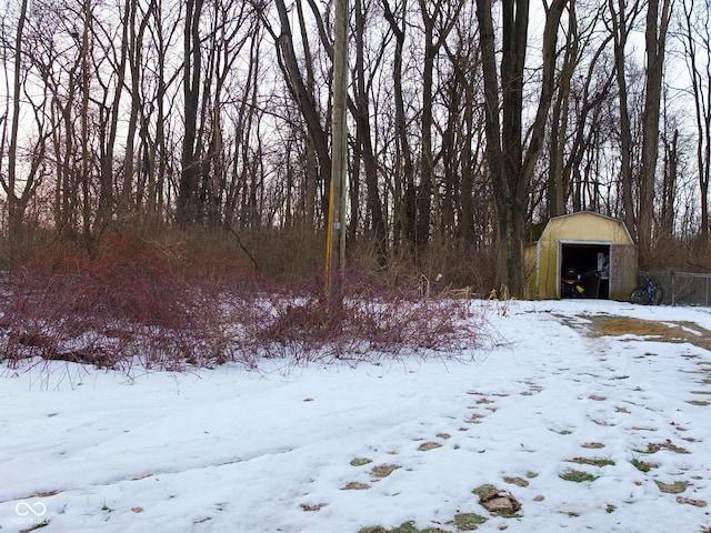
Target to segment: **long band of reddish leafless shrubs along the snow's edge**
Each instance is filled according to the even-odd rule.
[[[261,358],[461,358],[488,335],[468,300],[423,298],[370,271],[349,272],[334,304],[318,276],[276,282],[241,268],[132,240],[94,258],[28,264],[0,294],[0,348],[14,368],[60,360],[130,374]]]

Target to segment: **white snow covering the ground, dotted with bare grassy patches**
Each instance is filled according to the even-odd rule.
[[[477,513],[482,532],[711,531],[701,506],[711,501],[711,353],[585,334],[591,315],[608,314],[683,322],[704,339],[711,310],[487,309],[489,334],[504,342],[452,359],[131,376],[0,366],[0,530],[357,533],[414,521],[455,532],[458,513]],[[420,449],[430,442],[441,446]],[[642,453],[650,444],[662,446]],[[658,467],[641,472],[633,459]],[[399,467],[379,479],[383,464]],[[568,470],[598,479],[562,480]],[[688,487],[664,493],[655,481]],[[344,490],[352,482],[370,489]],[[518,516],[479,504],[472,491],[485,483],[521,503]]]

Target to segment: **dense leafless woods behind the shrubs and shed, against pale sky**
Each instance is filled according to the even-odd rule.
[[[645,269],[711,268],[708,2],[350,4],[349,261],[523,295],[530,229],[591,210],[627,222]],[[130,231],[319,271],[333,18],[326,0],[8,0],[4,268]]]

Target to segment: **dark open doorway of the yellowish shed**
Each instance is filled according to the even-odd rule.
[[[560,243],[561,298],[610,298],[610,244]]]

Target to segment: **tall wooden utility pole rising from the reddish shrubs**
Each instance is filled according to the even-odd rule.
[[[331,134],[331,188],[326,249],[326,295],[340,300],[346,268],[346,169],[348,130],[346,127],[348,87],[348,0],[336,0],[333,42],[333,131]]]

